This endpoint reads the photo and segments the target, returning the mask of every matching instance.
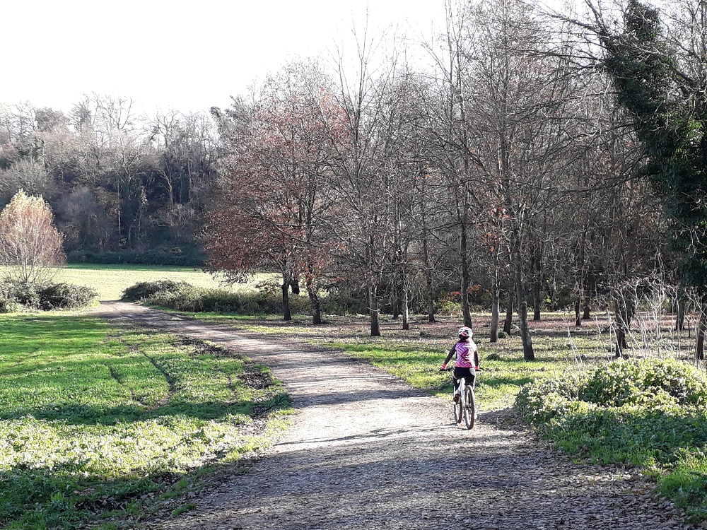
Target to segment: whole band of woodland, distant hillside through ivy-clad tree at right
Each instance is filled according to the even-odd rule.
[[[707,3],[583,9],[449,4],[433,40],[361,30],[209,114],[1,107],[0,196],[45,196],[70,259],[277,272],[286,319],[300,287],[315,323],[365,300],[373,335],[484,305],[531,360],[544,308],[609,307],[619,355],[642,303],[703,312]]]

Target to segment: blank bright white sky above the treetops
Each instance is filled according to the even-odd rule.
[[[4,0],[0,103],[71,109],[81,95],[151,110],[230,105],[293,55],[327,54],[363,25],[431,35],[444,0]],[[413,28],[413,30],[409,30]],[[345,48],[346,49],[346,48]]]

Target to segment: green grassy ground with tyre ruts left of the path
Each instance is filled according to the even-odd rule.
[[[4,315],[0,329],[4,528],[133,528],[267,445],[288,407],[267,368],[200,341],[81,314]]]

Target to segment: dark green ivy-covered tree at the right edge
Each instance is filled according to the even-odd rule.
[[[682,257],[682,282],[704,298],[707,100],[704,80],[690,72],[704,71],[706,56],[681,57],[665,36],[659,11],[638,0],[626,4],[622,33],[613,34],[600,17],[597,21],[597,35],[607,51],[604,66],[614,79],[619,102],[635,117],[645,149],[641,172],[653,182],[670,216],[672,242]],[[700,64],[695,65],[696,61]],[[686,64],[693,68],[684,68]],[[705,326],[703,315],[696,352],[700,358]]]

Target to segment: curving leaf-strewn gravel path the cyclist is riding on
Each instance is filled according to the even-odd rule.
[[[451,401],[345,353],[122,302],[98,315],[233,348],[293,396],[293,425],[250,473],[159,528],[690,528],[640,476],[572,464],[508,411],[480,413],[468,431],[453,424]]]

